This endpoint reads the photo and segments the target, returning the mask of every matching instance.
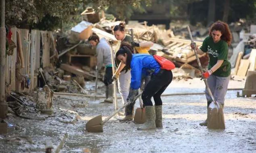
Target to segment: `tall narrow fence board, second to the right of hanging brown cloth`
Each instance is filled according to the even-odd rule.
[[[31,50],[30,50],[30,87],[29,90],[34,90],[34,74],[35,74],[35,60],[36,60],[36,35],[37,30],[31,30]]]

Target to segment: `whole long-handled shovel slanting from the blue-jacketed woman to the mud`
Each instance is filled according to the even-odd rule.
[[[142,93],[138,94],[135,98],[134,101],[141,96]],[[128,101],[126,104],[124,104],[121,108],[119,108],[118,110],[116,110],[111,116],[107,117],[103,122],[102,122],[102,116],[101,114],[99,116],[96,116],[94,118],[92,118],[91,120],[89,120],[86,125],[85,125],[85,129],[88,132],[103,132],[103,124],[105,124],[109,119],[111,119],[115,114],[117,114],[118,112],[120,112],[124,107],[130,105],[131,103],[133,103],[134,101]]]

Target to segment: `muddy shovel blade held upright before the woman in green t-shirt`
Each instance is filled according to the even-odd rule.
[[[218,107],[210,107],[208,108],[208,121],[207,128],[208,129],[225,129],[225,120],[223,114],[223,108],[220,105]]]

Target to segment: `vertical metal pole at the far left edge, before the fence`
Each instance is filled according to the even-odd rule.
[[[5,104],[5,0],[1,0],[0,27],[0,118],[5,118],[7,104]]]

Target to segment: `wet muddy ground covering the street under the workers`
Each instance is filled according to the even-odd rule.
[[[231,80],[229,88],[243,88],[244,82]],[[88,82],[86,88],[90,87]],[[164,94],[204,90],[204,82],[198,78],[174,80]],[[99,92],[103,91],[101,86]],[[85,124],[99,114],[103,119],[109,116],[113,104],[100,103],[103,99],[55,95],[55,113],[50,116],[40,114],[40,120],[28,120],[8,114],[8,133],[0,135],[0,152],[44,152],[45,140],[52,141],[54,152],[63,153],[256,152],[256,98],[237,98],[237,91],[241,93],[231,90],[226,95],[225,130],[200,126],[207,113],[205,95],[186,95],[162,97],[163,129],[137,131],[140,125],[112,118],[104,124],[102,133],[85,131]]]

